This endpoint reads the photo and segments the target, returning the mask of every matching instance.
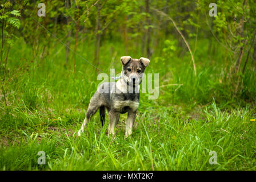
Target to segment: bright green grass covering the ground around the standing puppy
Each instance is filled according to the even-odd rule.
[[[182,85],[162,86],[157,100],[141,94],[133,134],[124,139],[127,114],[122,114],[113,141],[106,135],[108,119],[101,127],[98,113],[86,133],[76,137],[101,82],[93,67],[77,57],[73,73],[72,56],[64,67],[60,45],[40,60],[25,44],[15,44],[3,84],[7,106],[1,90],[0,169],[256,170],[256,123],[250,121],[256,118],[255,71],[247,69],[236,92],[225,53],[215,45],[216,55],[206,54],[205,44],[198,41],[202,49],[195,52],[197,76],[187,53],[170,59],[159,49],[151,57],[146,72],[159,73],[159,86]],[[79,45],[78,53],[93,62],[92,47]],[[97,67],[120,73],[123,55],[122,45],[106,42]],[[136,48],[129,55],[141,57]],[[157,57],[162,62],[156,63]],[[46,165],[37,163],[38,151],[45,151]],[[210,151],[217,152],[217,165],[209,164]]]

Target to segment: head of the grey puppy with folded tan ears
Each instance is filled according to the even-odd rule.
[[[143,73],[149,65],[150,60],[144,57],[140,59],[132,59],[130,56],[122,56],[121,63],[122,79],[133,86],[141,84]]]

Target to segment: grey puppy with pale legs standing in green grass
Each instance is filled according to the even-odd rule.
[[[85,120],[78,131],[78,136],[85,130],[90,118],[99,109],[102,126],[105,122],[105,110],[109,112],[109,134],[115,135],[115,126],[120,114],[128,112],[125,138],[133,133],[133,123],[139,106],[139,84],[150,60],[144,57],[132,59],[122,56],[123,65],[121,79],[117,82],[104,82],[91,97]]]

